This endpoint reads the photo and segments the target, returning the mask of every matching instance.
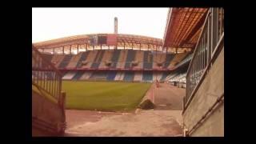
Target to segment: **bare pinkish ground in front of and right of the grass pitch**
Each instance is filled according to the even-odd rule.
[[[182,97],[185,89],[161,84],[155,110],[114,113],[66,110],[66,137],[173,137],[182,134]]]

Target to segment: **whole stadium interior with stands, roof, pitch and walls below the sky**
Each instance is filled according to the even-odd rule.
[[[224,10],[169,8],[161,38],[32,43],[33,136],[224,136]]]

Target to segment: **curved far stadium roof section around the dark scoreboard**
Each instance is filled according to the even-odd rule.
[[[125,47],[136,47],[146,50],[156,50],[162,46],[162,39],[161,38],[152,38],[146,37],[142,35],[134,35],[134,34],[83,34],[83,35],[75,35],[66,38],[58,38],[52,39],[45,42],[36,42],[34,46],[38,49],[48,49],[48,48],[58,48],[63,46],[70,46],[70,45],[88,45],[92,46],[90,43],[90,38],[94,38],[94,36],[106,36],[109,38],[110,36],[116,36],[117,42],[115,45],[108,45],[105,46],[125,46]]]

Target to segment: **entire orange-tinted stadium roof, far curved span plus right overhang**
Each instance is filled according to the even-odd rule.
[[[170,8],[163,39],[134,34],[82,34],[33,44],[38,49],[73,45],[86,45],[91,48],[102,45],[98,40],[93,42],[93,38],[106,36],[107,42],[102,46],[132,47],[141,50],[191,50],[198,41],[207,10],[208,8]]]

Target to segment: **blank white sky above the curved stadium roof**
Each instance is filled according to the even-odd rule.
[[[168,8],[32,8],[32,42],[78,34],[138,34],[163,38]]]

